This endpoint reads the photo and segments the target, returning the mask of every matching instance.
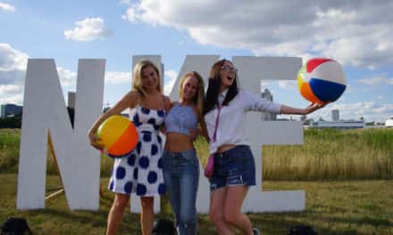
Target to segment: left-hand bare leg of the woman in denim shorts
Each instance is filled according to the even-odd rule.
[[[224,219],[224,207],[226,204],[228,190],[229,187],[222,187],[218,190],[213,190],[210,194],[209,214],[219,235],[234,234],[230,228],[230,223],[226,222]]]

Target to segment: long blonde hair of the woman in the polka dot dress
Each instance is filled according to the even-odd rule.
[[[143,89],[142,70],[149,67],[149,66],[152,67],[153,69],[155,69],[155,72],[157,73],[157,77],[158,77],[156,89],[160,93],[162,92],[162,90],[161,90],[161,75],[160,75],[160,71],[157,69],[155,64],[152,61],[148,61],[148,60],[138,61],[138,63],[134,66],[134,70],[133,70],[132,90],[140,93],[143,98],[146,98],[146,92]]]

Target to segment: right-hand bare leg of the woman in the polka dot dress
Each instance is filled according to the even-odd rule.
[[[140,213],[140,224],[142,225],[142,234],[151,235],[153,230],[153,223],[155,220],[154,204],[155,198],[142,197],[140,198],[142,204],[142,212]]]

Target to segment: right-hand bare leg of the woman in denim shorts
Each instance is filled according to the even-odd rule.
[[[238,228],[245,235],[253,234],[253,227],[247,215],[241,214],[240,210],[243,206],[243,201],[246,199],[247,186],[237,185],[228,187],[225,205],[224,205],[224,220],[226,223]]]

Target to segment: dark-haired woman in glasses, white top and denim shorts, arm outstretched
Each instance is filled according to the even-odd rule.
[[[214,154],[214,172],[210,181],[210,217],[218,234],[260,234],[240,210],[247,189],[255,185],[255,162],[245,134],[247,111],[277,114],[308,114],[323,105],[311,104],[297,109],[264,100],[253,93],[238,89],[237,69],[231,61],[213,64],[206,91],[204,117],[210,154]],[[218,127],[212,142],[215,125]]]

